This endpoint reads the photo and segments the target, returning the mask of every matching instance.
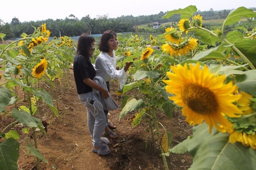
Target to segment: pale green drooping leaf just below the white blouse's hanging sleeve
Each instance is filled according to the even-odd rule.
[[[126,105],[124,106],[124,108],[122,109],[122,112],[119,115],[119,120],[121,118],[123,118],[128,112],[137,110],[138,108],[140,108],[140,106],[143,104],[143,100],[136,100],[134,98],[130,99]]]

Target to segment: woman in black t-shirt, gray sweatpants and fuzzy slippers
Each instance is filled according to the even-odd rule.
[[[87,107],[87,123],[90,135],[93,138],[93,147],[91,150],[99,155],[110,153],[108,147],[109,140],[101,138],[106,126],[106,117],[103,109],[99,108],[100,99],[93,94],[92,87],[101,92],[103,98],[108,98],[108,90],[100,87],[93,81],[95,69],[90,62],[93,56],[95,44],[94,37],[88,34],[82,34],[77,43],[76,56],[74,58],[73,71],[77,94],[80,101]]]

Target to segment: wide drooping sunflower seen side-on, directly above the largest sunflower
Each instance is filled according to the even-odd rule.
[[[190,50],[194,50],[197,46],[197,39],[190,38],[183,43],[177,45],[177,44],[164,44],[162,45],[162,50],[166,52],[166,54],[169,54],[171,56],[175,55],[177,57],[178,55],[186,55],[190,53]]]

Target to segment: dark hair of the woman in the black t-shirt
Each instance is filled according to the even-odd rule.
[[[77,43],[76,55],[83,55],[86,58],[93,57],[89,53],[89,50],[91,48],[91,43],[93,43],[94,41],[94,37],[89,34],[83,33],[82,35],[80,35]]]

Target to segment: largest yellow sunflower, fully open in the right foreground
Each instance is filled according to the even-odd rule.
[[[232,82],[223,84],[225,75],[215,77],[208,67],[201,70],[199,63],[194,66],[187,63],[184,66],[171,66],[174,73],[167,72],[170,80],[163,80],[167,84],[166,91],[175,96],[169,97],[177,105],[182,106],[182,114],[190,124],[201,124],[203,120],[210,126],[211,133],[213,125],[221,132],[230,129],[232,123],[223,115],[228,117],[240,117],[242,111],[232,102],[240,99],[240,95],[233,95],[235,86]]]

